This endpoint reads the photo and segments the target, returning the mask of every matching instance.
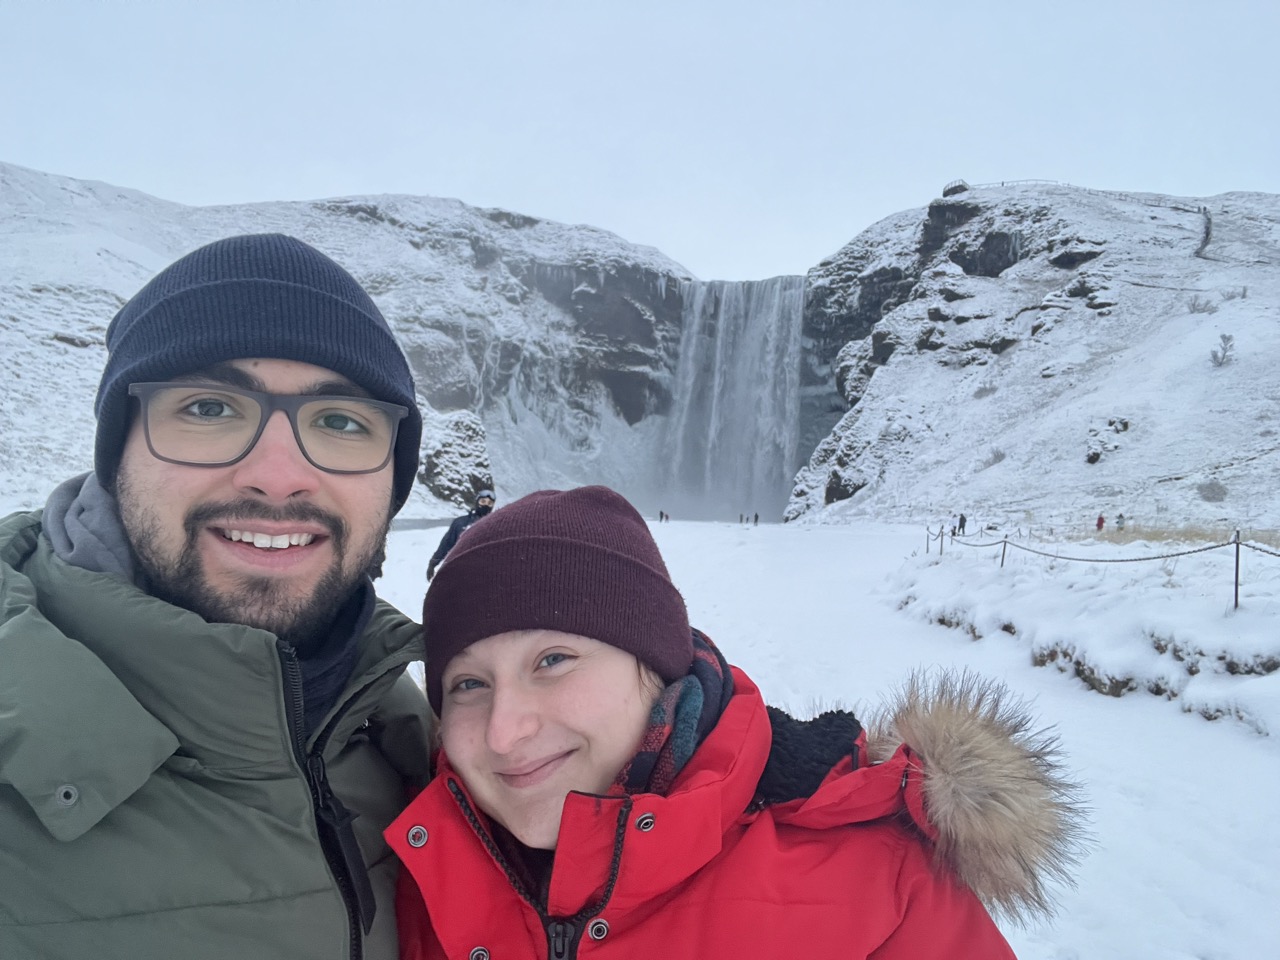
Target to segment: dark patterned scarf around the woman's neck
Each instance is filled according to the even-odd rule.
[[[640,749],[613,781],[627,794],[666,795],[733,695],[728,662],[705,634],[692,634],[692,667],[663,689],[649,713]]]

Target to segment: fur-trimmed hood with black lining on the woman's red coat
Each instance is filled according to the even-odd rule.
[[[1074,883],[1088,846],[1079,785],[1065,771],[1057,737],[1004,684],[968,671],[916,673],[865,731],[845,710],[812,721],[773,708],[769,714],[773,748],[760,803],[813,809],[829,805],[833,790],[851,796],[859,780],[892,777],[897,810],[992,913],[1018,923],[1042,919],[1053,911],[1052,888]]]

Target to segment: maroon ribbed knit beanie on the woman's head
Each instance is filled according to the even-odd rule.
[[[689,672],[689,614],[649,526],[607,486],[539,490],[467,527],[422,604],[426,695],[477,640],[561,630],[634,654],[671,682]]]

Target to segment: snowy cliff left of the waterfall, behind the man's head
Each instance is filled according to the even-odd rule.
[[[119,306],[182,253],[234,233],[291,233],[325,251],[397,332],[426,426],[411,512],[452,512],[494,483],[626,489],[637,438],[671,408],[689,273],[604,230],[424,197],[192,209],[8,165],[0,209],[3,396],[60,433],[0,440],[6,462],[28,465],[15,506],[91,466],[93,389]]]

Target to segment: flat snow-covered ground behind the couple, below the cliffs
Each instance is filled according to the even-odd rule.
[[[1230,548],[1123,564],[1010,549],[1001,568],[998,547],[948,541],[940,558],[933,543],[927,554],[916,526],[652,529],[692,622],[771,703],[804,716],[837,703],[865,712],[919,667],[968,667],[1001,677],[1057,726],[1096,842],[1055,920],[1006,928],[1021,960],[1277,955],[1280,672],[1221,664],[1280,655],[1280,557],[1243,552],[1234,611]],[[413,616],[440,532],[390,540],[380,593]],[[1194,545],[1076,541],[1059,552],[1103,561]],[[1033,666],[1051,648],[1133,676],[1138,689],[1105,696],[1059,669],[1061,658]],[[1197,650],[1192,675],[1197,654],[1187,652]],[[1147,692],[1160,678],[1175,699]],[[1243,719],[1198,713],[1222,704]]]

